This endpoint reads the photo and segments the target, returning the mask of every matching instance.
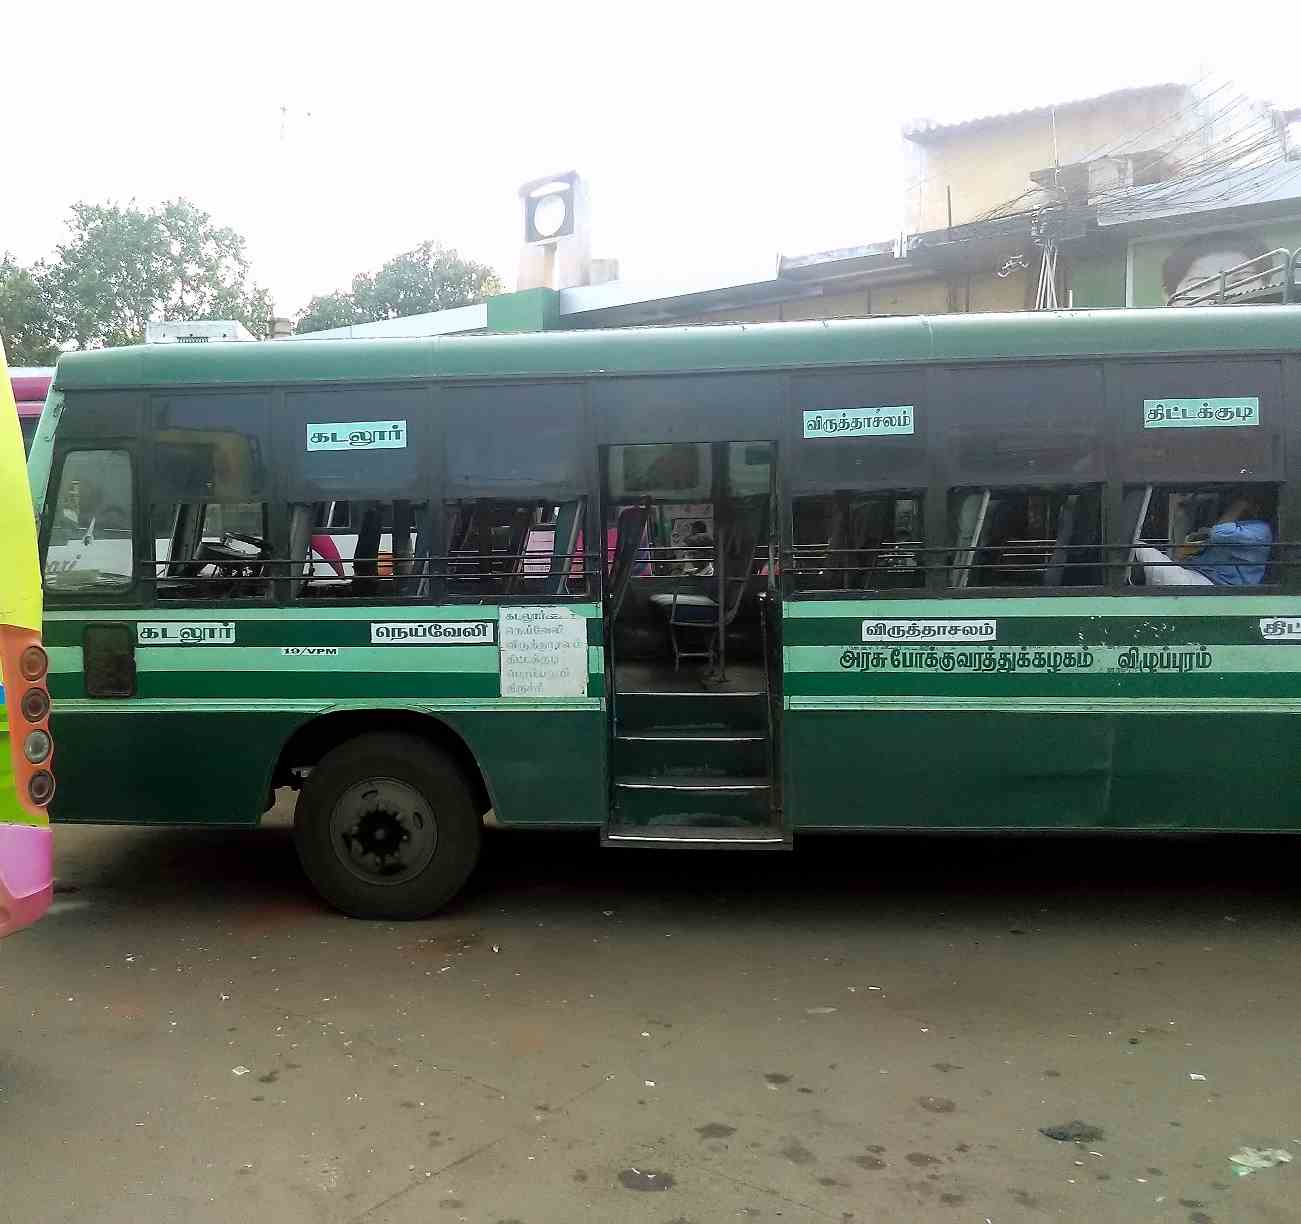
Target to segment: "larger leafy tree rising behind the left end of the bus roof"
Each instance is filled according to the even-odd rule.
[[[250,278],[243,238],[189,200],[74,204],[69,229],[44,276],[64,345],[139,343],[151,319],[238,319],[267,334],[271,297]]]

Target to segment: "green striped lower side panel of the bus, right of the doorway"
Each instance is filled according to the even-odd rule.
[[[788,822],[1301,827],[1301,640],[1276,628],[1296,604],[787,604]]]

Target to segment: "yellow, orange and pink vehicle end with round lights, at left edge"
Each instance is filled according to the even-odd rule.
[[[18,414],[0,349],[0,937],[35,922],[53,890],[40,570]]]

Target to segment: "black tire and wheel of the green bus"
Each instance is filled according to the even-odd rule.
[[[461,769],[414,735],[359,735],[328,752],[294,816],[307,878],[354,918],[436,913],[470,878],[480,834]]]

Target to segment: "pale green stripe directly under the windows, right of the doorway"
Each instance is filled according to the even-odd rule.
[[[952,600],[787,600],[787,620],[857,619],[965,619],[971,617],[1296,617],[1301,598],[1278,594],[1081,594],[1008,596],[1007,598]]]

